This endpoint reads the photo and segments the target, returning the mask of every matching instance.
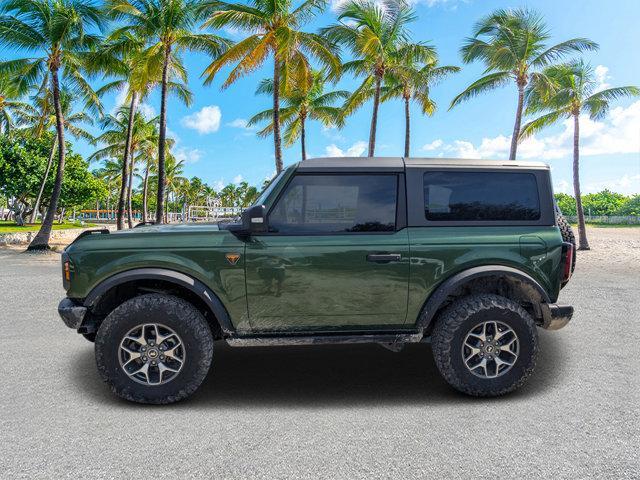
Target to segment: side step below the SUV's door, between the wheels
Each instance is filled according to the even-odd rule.
[[[324,335],[252,335],[227,338],[232,347],[270,347],[279,345],[335,345],[345,343],[403,344],[422,341],[422,332],[379,334],[324,334]]]

